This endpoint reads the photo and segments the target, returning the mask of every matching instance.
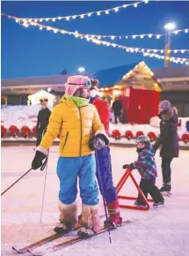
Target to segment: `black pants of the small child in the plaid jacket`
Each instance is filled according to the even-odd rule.
[[[158,203],[160,201],[163,201],[164,198],[159,189],[156,187],[155,183],[156,179],[142,178],[140,182],[140,188],[146,199],[148,199],[148,194],[150,194],[151,198],[155,201],[155,203]],[[140,194],[138,194],[137,202],[140,205],[145,205]]]

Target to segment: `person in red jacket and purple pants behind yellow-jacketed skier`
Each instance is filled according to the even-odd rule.
[[[111,109],[108,102],[98,96],[98,79],[91,79],[91,99],[90,102],[98,109],[98,114],[102,124],[105,126],[105,132],[109,134],[109,124],[111,117]],[[103,147],[96,151],[97,178],[100,192],[103,195],[100,177],[103,183],[103,191],[108,210],[108,222],[110,228],[116,228],[121,224],[120,207],[116,189],[113,185],[112,162],[110,147]],[[105,221],[105,228],[108,223]]]

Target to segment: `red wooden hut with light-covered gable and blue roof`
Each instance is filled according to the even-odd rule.
[[[149,124],[158,113],[161,84],[143,61],[96,72],[99,91],[109,101],[117,96],[123,104],[123,123]]]

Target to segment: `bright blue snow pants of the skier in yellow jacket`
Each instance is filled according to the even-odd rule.
[[[98,185],[96,183],[95,155],[81,157],[59,157],[57,175],[60,179],[59,200],[71,204],[76,200],[77,177],[79,177],[80,196],[85,205],[98,204]]]

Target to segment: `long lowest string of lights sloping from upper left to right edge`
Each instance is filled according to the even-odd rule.
[[[18,18],[18,17],[13,17],[13,16],[8,16],[8,15],[5,15],[7,17],[9,17],[10,19],[14,19],[17,23],[19,23],[20,25],[22,26],[25,26],[25,27],[28,27],[28,26],[38,26],[39,29],[43,29],[43,28],[46,28],[47,31],[49,30],[52,30],[55,34],[57,33],[61,33],[61,34],[69,34],[69,35],[74,35],[76,38],[80,38],[80,39],[85,39],[87,41],[92,41],[96,44],[102,44],[102,45],[105,45],[105,46],[112,46],[113,48],[119,48],[119,49],[125,49],[127,50],[127,52],[141,52],[143,54],[143,56],[149,56],[149,57],[156,57],[156,58],[159,58],[159,59],[164,59],[164,56],[160,56],[158,54],[156,54],[156,52],[161,52],[161,53],[164,53],[164,49],[141,49],[141,48],[131,48],[131,47],[127,47],[127,46],[124,46],[124,45],[120,45],[120,44],[116,44],[116,43],[112,43],[112,42],[109,42],[109,41],[101,41],[97,38],[94,37],[91,37],[89,35],[86,35],[86,34],[79,34],[77,31],[76,32],[70,32],[70,31],[67,31],[67,30],[64,30],[64,29],[59,29],[57,27],[53,27],[53,26],[45,26],[45,25],[42,25],[40,23],[36,23],[36,22],[29,22],[28,21],[25,21],[21,18]],[[171,49],[171,51],[173,51],[174,53],[177,52],[181,52],[181,53],[185,53],[185,52],[189,52],[189,49]],[[167,56],[168,59],[170,59],[171,62],[174,62],[174,63],[181,63],[181,64],[187,64],[188,63],[188,59],[187,58],[181,58],[181,57],[174,57],[174,56]]]

